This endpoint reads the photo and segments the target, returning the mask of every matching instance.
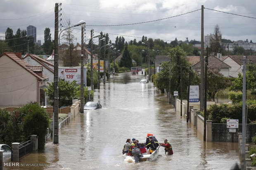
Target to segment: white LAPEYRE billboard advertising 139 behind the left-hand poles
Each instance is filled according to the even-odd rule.
[[[59,78],[70,83],[76,80],[78,85],[81,84],[81,67],[59,67]],[[84,85],[86,85],[86,67],[83,70]]]

